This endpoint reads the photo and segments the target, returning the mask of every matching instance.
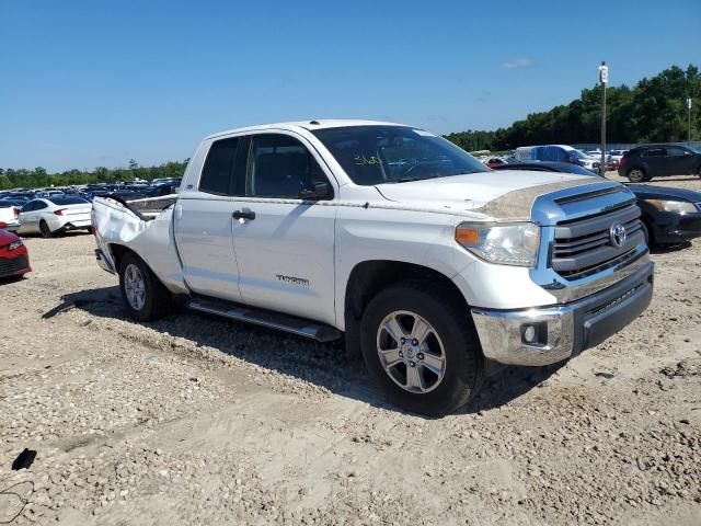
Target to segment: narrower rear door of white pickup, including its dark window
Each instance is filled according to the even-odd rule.
[[[245,162],[245,142],[239,137],[212,141],[197,188],[186,188],[173,210],[187,286],[197,294],[231,301],[241,299],[231,231],[237,163],[239,159]]]

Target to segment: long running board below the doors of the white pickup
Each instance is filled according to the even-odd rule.
[[[341,338],[341,331],[333,327],[243,305],[212,299],[194,299],[187,304],[187,307],[198,312],[221,316],[230,320],[243,321],[269,329],[277,329],[278,331],[317,340],[318,342],[332,342]]]

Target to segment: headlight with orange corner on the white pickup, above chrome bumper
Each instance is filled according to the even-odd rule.
[[[536,266],[540,229],[532,222],[463,222],[456,229],[456,241],[490,263]]]

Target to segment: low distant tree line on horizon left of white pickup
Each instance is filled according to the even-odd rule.
[[[94,170],[67,170],[48,173],[38,167],[34,170],[0,168],[0,190],[42,188],[47,186],[67,186],[72,184],[107,183],[114,181],[151,181],[160,178],[182,178],[187,161],[169,161],[156,167],[140,167],[131,159],[127,168],[108,169],[97,167]]]

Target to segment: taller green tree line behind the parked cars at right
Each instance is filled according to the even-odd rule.
[[[608,142],[667,142],[687,140],[687,98],[691,96],[691,138],[701,132],[701,75],[673,66],[633,88],[606,90]],[[509,150],[548,144],[597,144],[601,137],[601,85],[582,90],[579,99],[547,112],[531,113],[506,128],[467,130],[446,138],[468,151]]]

